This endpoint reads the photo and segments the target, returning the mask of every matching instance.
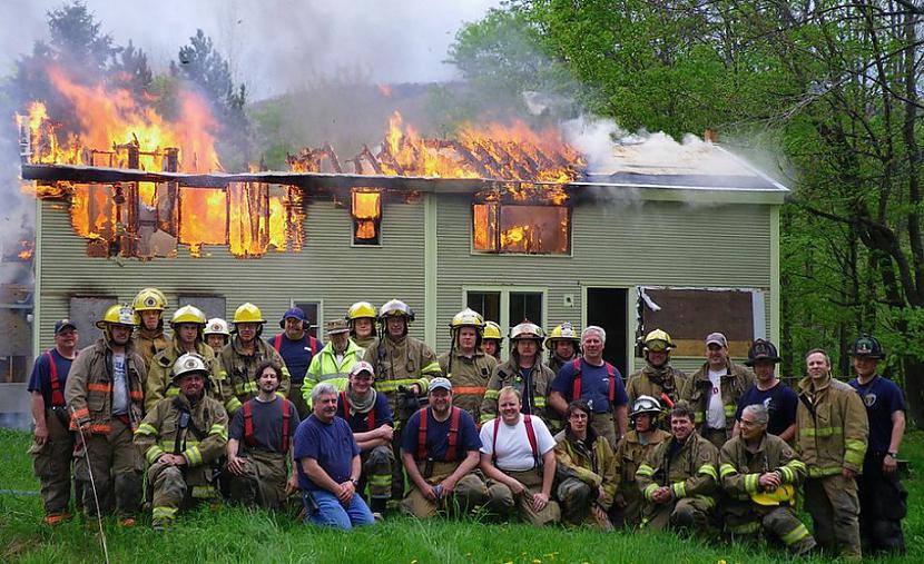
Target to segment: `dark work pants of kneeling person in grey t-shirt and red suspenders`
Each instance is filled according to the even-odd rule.
[[[230,497],[247,507],[278,509],[285,504],[286,455],[261,449],[246,449],[238,457],[244,463],[240,475],[230,472]]]

